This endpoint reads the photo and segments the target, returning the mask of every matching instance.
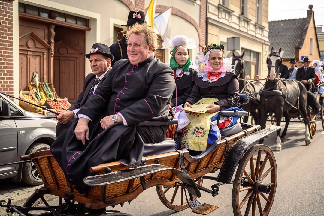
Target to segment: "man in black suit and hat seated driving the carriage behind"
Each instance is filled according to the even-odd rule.
[[[316,80],[315,69],[309,67],[309,63],[310,63],[309,59],[305,58],[303,60],[303,67],[298,68],[296,74],[296,80],[302,82],[305,85],[307,91],[310,88],[310,84],[312,82],[315,82]]]

